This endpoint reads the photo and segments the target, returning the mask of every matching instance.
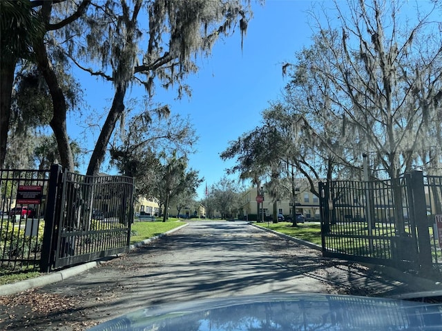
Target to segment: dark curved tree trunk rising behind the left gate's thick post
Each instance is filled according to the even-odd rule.
[[[73,172],[74,158],[72,150],[70,149],[68,130],[66,128],[66,99],[59,86],[57,74],[55,74],[52,64],[48,59],[48,53],[46,52],[43,39],[39,39],[35,42],[34,50],[37,58],[37,66],[48,84],[50,96],[52,97],[53,109],[50,127],[54,131],[55,139],[57,139],[60,162],[66,170]]]

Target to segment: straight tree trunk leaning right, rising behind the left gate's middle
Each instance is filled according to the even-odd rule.
[[[99,174],[99,168],[103,163],[104,156],[106,155],[106,149],[109,139],[111,139],[115,124],[119,117],[124,112],[124,96],[126,95],[126,86],[117,86],[115,95],[113,97],[113,103],[108,117],[104,122],[102,132],[100,132],[97,143],[90,157],[87,175],[97,176]]]

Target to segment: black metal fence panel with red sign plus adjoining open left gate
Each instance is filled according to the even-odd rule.
[[[128,250],[133,179],[1,170],[0,268],[47,272]]]

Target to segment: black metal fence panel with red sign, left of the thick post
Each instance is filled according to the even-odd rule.
[[[39,267],[48,170],[0,170],[0,268]]]

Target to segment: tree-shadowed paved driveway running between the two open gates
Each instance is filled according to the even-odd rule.
[[[407,291],[246,222],[198,221],[75,277],[0,297],[0,330],[86,330],[144,306],[243,294]]]

